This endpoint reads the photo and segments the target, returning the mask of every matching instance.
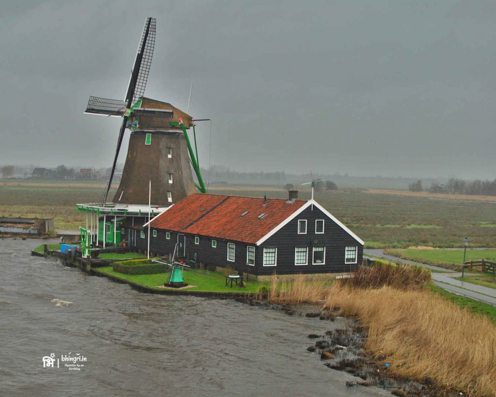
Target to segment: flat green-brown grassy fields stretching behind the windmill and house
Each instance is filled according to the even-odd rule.
[[[0,180],[0,216],[53,216],[56,228],[77,228],[86,218],[74,210],[74,204],[98,201],[104,189],[104,183],[95,182]],[[364,239],[366,248],[451,248],[459,247],[464,237],[469,237],[472,247],[496,247],[494,202],[471,196],[453,199],[386,192],[327,191],[315,193],[315,199]],[[209,193],[288,197],[282,188],[259,186],[212,187]],[[299,196],[310,199],[310,189],[301,190]]]

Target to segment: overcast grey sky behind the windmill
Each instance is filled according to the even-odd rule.
[[[494,179],[494,1],[2,1],[0,164],[111,166],[146,16],[145,95],[212,118],[211,163]],[[199,132],[208,166],[208,127]],[[128,132],[126,134],[126,138]],[[127,139],[126,139],[127,140]],[[122,149],[124,161],[127,145]]]

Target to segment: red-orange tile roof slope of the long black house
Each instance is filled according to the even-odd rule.
[[[307,203],[263,202],[263,198],[194,194],[153,219],[150,227],[254,244]],[[266,215],[258,218],[262,213]]]

